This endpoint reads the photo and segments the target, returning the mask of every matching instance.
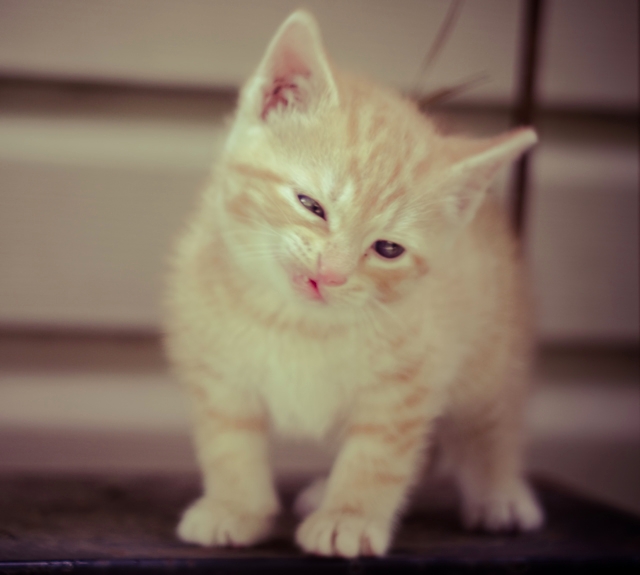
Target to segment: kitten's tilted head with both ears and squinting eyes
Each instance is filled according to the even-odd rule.
[[[535,141],[440,135],[408,100],[336,70],[298,11],[240,96],[221,163],[225,241],[291,301],[388,304],[428,280],[445,238]]]

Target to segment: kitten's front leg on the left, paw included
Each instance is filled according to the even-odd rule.
[[[249,398],[224,388],[194,399],[204,493],[185,511],[178,536],[206,546],[251,545],[268,534],[279,511],[266,418]]]

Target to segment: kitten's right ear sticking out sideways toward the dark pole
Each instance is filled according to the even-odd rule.
[[[443,182],[447,211],[462,224],[471,221],[498,172],[537,141],[532,128],[487,139],[447,138],[445,153],[454,158]]]

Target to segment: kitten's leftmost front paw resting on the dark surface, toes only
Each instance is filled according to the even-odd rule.
[[[241,513],[202,497],[183,514],[178,537],[204,546],[245,546],[263,539],[273,521],[271,515]]]

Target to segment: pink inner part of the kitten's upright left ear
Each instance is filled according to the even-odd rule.
[[[302,105],[302,90],[297,80],[310,75],[309,67],[295,52],[283,50],[274,62],[271,82],[264,91],[260,117],[266,120],[269,112],[278,106]]]

